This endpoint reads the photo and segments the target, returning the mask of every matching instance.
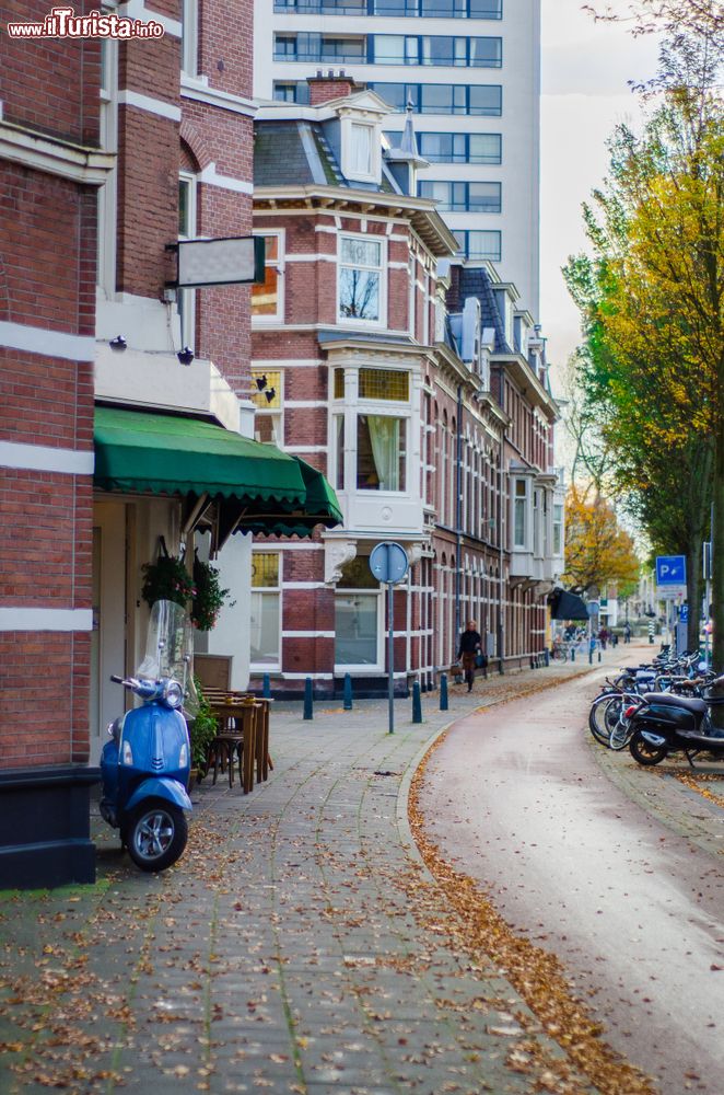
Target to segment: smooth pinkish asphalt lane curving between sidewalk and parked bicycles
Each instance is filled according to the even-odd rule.
[[[586,717],[604,676],[456,723],[425,770],[427,833],[518,933],[560,957],[604,1038],[656,1077],[663,1095],[720,1095],[717,834],[708,846],[690,839],[698,796],[638,769],[628,751],[606,752],[620,770],[616,783],[602,769]],[[701,816],[704,831],[724,818],[711,804]]]

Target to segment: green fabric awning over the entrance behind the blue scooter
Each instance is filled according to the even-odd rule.
[[[95,486],[215,499],[229,531],[308,535],[342,517],[320,472],[197,418],[95,408]],[[293,529],[293,532],[290,531]]]

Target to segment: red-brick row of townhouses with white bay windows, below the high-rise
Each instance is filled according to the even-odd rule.
[[[562,563],[542,341],[490,264],[451,267],[454,239],[411,196],[424,168],[411,124],[383,157],[374,93],[319,73],[308,100],[257,118],[255,428],[325,471],[345,525],[310,544],[257,542],[253,677],[278,694],[307,676],[329,694],[346,672],[358,692],[386,687],[386,593],[367,565],[382,540],[412,564],[395,592],[398,691],[410,675],[436,685],[470,616],[501,668],[527,662]]]

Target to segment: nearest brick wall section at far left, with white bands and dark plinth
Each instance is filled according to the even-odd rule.
[[[32,875],[40,861],[60,875],[73,861],[87,876],[93,858],[85,764],[95,242],[112,158],[101,148],[100,42],[17,41],[5,31],[47,10],[35,0],[0,5],[3,879]],[[28,786],[43,803],[33,811]],[[58,831],[43,849],[49,818]]]

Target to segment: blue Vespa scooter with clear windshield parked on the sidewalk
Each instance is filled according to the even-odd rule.
[[[145,657],[135,677],[112,677],[143,705],[108,727],[101,756],[101,814],[141,871],[163,871],[183,854],[188,839],[184,810],[190,770],[188,729],[182,711],[196,713],[191,673],[191,624],[173,601],[151,610]]]

